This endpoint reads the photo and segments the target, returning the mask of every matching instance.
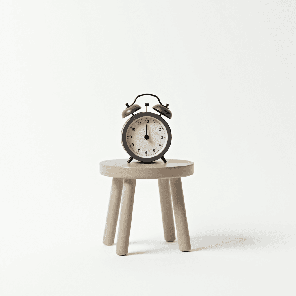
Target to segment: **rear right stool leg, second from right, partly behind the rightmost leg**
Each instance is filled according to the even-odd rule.
[[[158,189],[165,240],[167,242],[173,242],[176,239],[176,235],[169,179],[158,179]]]

